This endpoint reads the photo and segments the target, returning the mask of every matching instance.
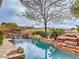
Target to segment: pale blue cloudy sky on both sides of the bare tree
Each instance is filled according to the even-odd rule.
[[[17,16],[18,13],[24,11],[19,0],[3,0],[2,6],[0,8],[0,23],[2,22],[12,22],[20,26],[35,26],[35,27],[44,27],[44,25],[33,23],[33,21],[26,19],[25,17]],[[70,28],[75,27],[79,24],[79,20],[64,20],[63,23],[53,23],[48,22],[48,27],[60,27],[60,28]]]

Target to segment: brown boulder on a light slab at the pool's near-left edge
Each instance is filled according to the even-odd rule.
[[[24,59],[24,49],[19,47],[7,54],[8,59]]]

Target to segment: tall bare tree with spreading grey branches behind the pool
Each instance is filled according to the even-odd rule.
[[[47,22],[71,18],[67,0],[20,0],[25,7],[26,18],[43,21],[47,33]],[[72,3],[71,0],[69,0]]]

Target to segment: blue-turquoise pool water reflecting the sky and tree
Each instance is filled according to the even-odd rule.
[[[16,47],[24,48],[25,59],[79,59],[79,56],[60,51],[54,46],[31,39],[14,39]]]

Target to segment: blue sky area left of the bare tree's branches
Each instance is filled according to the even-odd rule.
[[[17,13],[23,11],[23,7],[19,0],[3,0],[3,4],[0,9],[0,23],[2,22],[14,22],[19,25],[31,25],[30,21],[23,17],[17,16]]]

